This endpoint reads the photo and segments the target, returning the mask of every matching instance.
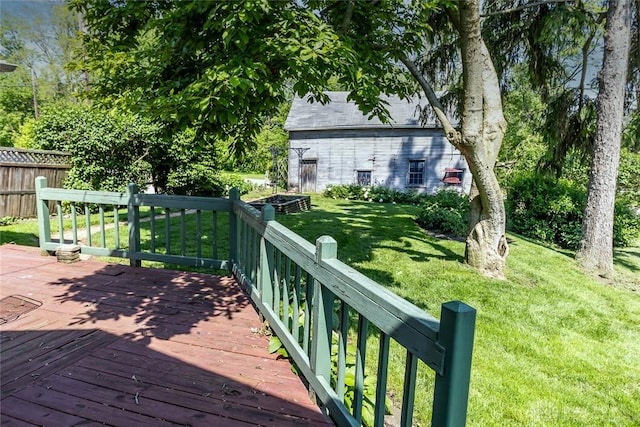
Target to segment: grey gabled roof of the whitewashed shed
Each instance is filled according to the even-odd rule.
[[[325,92],[331,102],[322,105],[319,102],[308,102],[309,95],[304,98],[295,97],[287,116],[284,128],[288,131],[331,130],[331,129],[373,129],[373,128],[435,128],[440,127],[431,117],[424,126],[420,124],[418,106],[431,109],[426,98],[414,97],[410,101],[397,96],[382,96],[388,102],[386,106],[391,115],[390,123],[382,123],[377,117],[369,119],[358,109],[353,101],[347,101],[348,92]],[[433,114],[430,114],[433,116]]]

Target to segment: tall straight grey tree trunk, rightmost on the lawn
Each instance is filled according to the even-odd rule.
[[[613,212],[631,42],[631,2],[609,2],[593,160],[582,238],[576,253],[584,269],[604,276],[613,275]]]

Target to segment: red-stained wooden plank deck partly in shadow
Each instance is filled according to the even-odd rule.
[[[0,325],[2,426],[331,425],[233,279],[0,246],[16,295],[42,305]]]

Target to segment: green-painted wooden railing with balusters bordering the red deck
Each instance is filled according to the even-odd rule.
[[[472,307],[447,302],[438,320],[339,261],[331,237],[313,245],[279,224],[273,207],[260,213],[236,189],[228,199],[140,194],[133,184],[126,193],[106,193],[47,188],[41,177],[36,191],[43,250],[60,244],[52,240],[52,224],[58,235],[70,228],[69,240],[78,243],[78,224],[93,221],[96,236],[87,233],[83,253],[124,257],[134,265],[152,260],[229,269],[337,425],[365,419],[384,425],[390,354],[398,348],[405,360],[403,390],[397,390],[400,424],[412,425],[423,363],[435,372],[432,425],[465,425]],[[53,222],[49,201],[57,206]],[[63,201],[72,202],[67,219]],[[92,215],[89,205],[98,213]],[[141,206],[149,207],[147,218]],[[117,225],[121,212],[125,238]]]

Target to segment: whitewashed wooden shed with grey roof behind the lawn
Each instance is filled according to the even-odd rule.
[[[347,101],[347,92],[327,92],[331,102],[295,98],[289,132],[289,187],[321,192],[329,184],[360,184],[432,193],[443,187],[469,192],[471,173],[435,120],[420,123],[426,99],[385,97],[392,121],[369,119]],[[430,114],[428,116],[433,116]]]

